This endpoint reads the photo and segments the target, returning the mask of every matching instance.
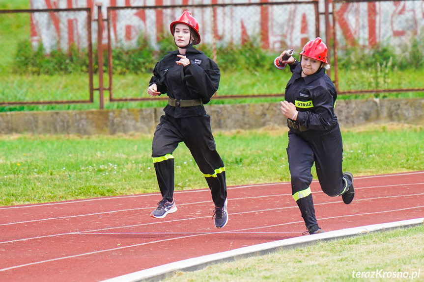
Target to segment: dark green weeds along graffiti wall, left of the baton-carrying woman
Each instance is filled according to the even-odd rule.
[[[144,37],[138,39],[137,48],[126,49],[122,45],[112,49],[113,74],[141,74],[151,73],[153,68],[168,51],[176,50],[170,34],[162,34],[158,43],[159,50],[155,50]],[[212,56],[212,46],[203,44],[198,47],[209,57]],[[275,53],[260,48],[257,40],[248,41],[242,46],[230,44],[217,48],[217,63],[222,71],[233,72],[239,70],[270,71],[270,62]],[[93,48],[93,70],[98,73],[97,48]],[[103,54],[104,62],[108,61],[107,50]],[[28,40],[21,41],[14,56],[13,73],[25,75],[58,75],[88,72],[88,51],[79,50],[72,46],[68,51],[55,50],[46,53],[42,44],[36,49]],[[105,71],[108,65],[105,63]]]

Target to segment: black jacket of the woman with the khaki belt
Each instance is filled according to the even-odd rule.
[[[190,65],[185,67],[176,63],[180,60],[178,50],[168,53],[156,64],[149,85],[156,83],[161,94],[166,93],[176,100],[201,99],[204,104],[209,103],[219,86],[221,73],[218,65],[193,47],[187,48],[185,55],[190,59]],[[206,114],[203,106],[167,105],[164,111],[175,118]]]

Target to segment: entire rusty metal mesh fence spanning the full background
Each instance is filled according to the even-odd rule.
[[[273,60],[317,36],[329,47],[329,75],[339,94],[424,91],[421,1],[325,0],[325,12],[319,5],[322,10],[318,1],[287,1],[0,11],[0,105],[98,102],[103,108],[104,91],[109,102],[164,99],[146,89],[155,63],[176,49],[169,25],[184,10],[199,22],[196,48],[221,69],[213,99],[283,96],[290,72],[275,69]],[[14,25],[20,32],[11,32]]]

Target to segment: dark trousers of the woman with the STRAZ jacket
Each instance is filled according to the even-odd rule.
[[[342,154],[339,124],[325,131],[290,128],[288,132],[287,158],[292,196],[307,228],[317,224],[310,188],[312,165],[315,162],[322,191],[331,197],[340,196],[351,184],[350,180],[343,178]]]

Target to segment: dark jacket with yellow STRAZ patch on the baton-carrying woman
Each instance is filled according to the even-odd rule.
[[[313,75],[302,77],[300,62],[290,66],[293,73],[285,88],[284,100],[299,111],[296,123],[314,130],[327,130],[337,123],[334,113],[337,92],[330,77],[321,68]]]

